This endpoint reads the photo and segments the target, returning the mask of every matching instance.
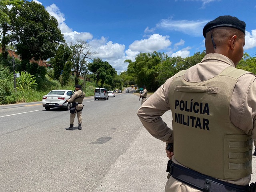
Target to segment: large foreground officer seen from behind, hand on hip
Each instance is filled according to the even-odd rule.
[[[169,78],[137,114],[152,136],[173,143],[167,151],[166,192],[253,190],[256,77],[236,69],[243,56],[245,23],[220,16],[203,29],[206,56]],[[162,118],[172,110],[173,131]],[[170,117],[171,118],[171,117]]]

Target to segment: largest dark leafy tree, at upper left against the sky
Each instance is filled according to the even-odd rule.
[[[22,60],[46,60],[53,57],[58,44],[64,42],[56,18],[34,1],[13,6],[10,17],[10,39]]]

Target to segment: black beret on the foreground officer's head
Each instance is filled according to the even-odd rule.
[[[206,37],[206,33],[214,28],[217,27],[232,27],[239,29],[242,31],[245,35],[245,22],[239,20],[236,17],[232,17],[230,15],[225,15],[225,16],[219,16],[213,21],[208,22],[206,26],[204,26],[203,29],[203,35],[204,38]]]

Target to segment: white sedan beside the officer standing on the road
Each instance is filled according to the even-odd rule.
[[[70,96],[74,94],[72,90],[52,90],[47,95],[43,96],[43,107],[48,111],[50,108],[66,108],[70,110],[70,102],[63,104]]]

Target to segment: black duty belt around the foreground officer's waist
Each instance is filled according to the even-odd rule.
[[[170,160],[171,161],[171,160]],[[246,186],[231,184],[218,180],[216,178],[201,174],[192,169],[168,162],[170,172],[169,178],[172,176],[176,180],[183,182],[191,187],[194,187],[203,192],[255,192],[254,183]],[[168,170],[168,167],[167,167]]]

